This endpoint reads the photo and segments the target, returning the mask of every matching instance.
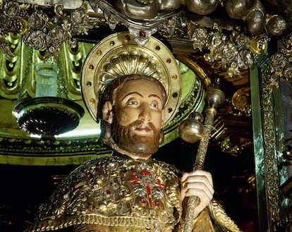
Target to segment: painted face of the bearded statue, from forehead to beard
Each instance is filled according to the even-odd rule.
[[[164,125],[159,87],[150,80],[130,80],[118,91],[114,107],[114,141],[118,147],[142,157],[157,152]]]

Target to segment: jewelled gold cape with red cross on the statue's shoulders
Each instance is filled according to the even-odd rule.
[[[121,155],[92,159],[75,169],[42,204],[30,231],[86,224],[99,229],[80,231],[180,229],[179,177],[178,169],[162,161],[136,161]],[[205,221],[207,215],[202,214],[194,223]],[[214,231],[208,220],[204,224]]]

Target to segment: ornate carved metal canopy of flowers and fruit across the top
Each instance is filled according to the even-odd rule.
[[[171,37],[181,39],[183,35],[178,32],[188,28],[188,36],[183,36],[186,41],[193,42],[196,49],[202,49],[203,43],[207,44],[205,48],[210,53],[205,55],[205,59],[214,62],[214,68],[218,65],[228,68],[232,76],[240,75],[239,68],[249,68],[257,59],[257,54],[266,51],[269,37],[288,33],[288,16],[269,15],[259,0],[241,0],[240,3],[232,0],[220,3],[170,1],[167,4],[166,1],[115,1],[111,4],[110,1],[92,0],[79,1],[78,4],[65,1],[50,6],[42,1],[3,1],[0,47],[5,49],[6,54],[11,54],[4,35],[16,32],[22,35],[23,42],[29,47],[44,51],[46,58],[56,58],[63,42],[75,44],[75,35],[87,35],[90,30],[102,25],[108,25],[111,30],[117,25],[126,25],[140,45],[145,45],[155,32],[165,34],[164,30]],[[209,16],[219,4],[229,19]],[[140,13],[137,13],[139,6]],[[137,18],[141,16],[142,19]],[[236,20],[244,20],[246,28]],[[238,30],[239,27],[242,30]],[[271,33],[264,32],[264,29]]]

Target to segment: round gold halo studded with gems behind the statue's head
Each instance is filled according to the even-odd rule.
[[[114,78],[128,74],[157,78],[167,94],[164,126],[174,118],[181,102],[181,72],[174,55],[158,39],[150,37],[141,47],[129,32],[102,39],[85,59],[81,75],[83,100],[95,121],[99,96]]]

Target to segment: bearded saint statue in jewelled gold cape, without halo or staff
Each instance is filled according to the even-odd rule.
[[[116,78],[99,99],[100,141],[111,157],[95,158],[75,169],[42,204],[29,231],[182,231],[184,202],[200,201],[193,231],[240,231],[212,200],[207,171],[183,173],[152,160],[163,142],[166,91],[145,75]]]

